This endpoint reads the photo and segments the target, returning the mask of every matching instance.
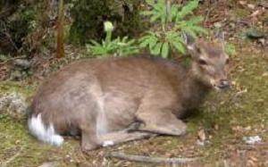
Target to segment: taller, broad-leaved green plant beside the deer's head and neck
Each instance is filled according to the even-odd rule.
[[[182,33],[188,33],[193,38],[206,34],[206,30],[198,24],[203,21],[201,16],[190,14],[197,8],[198,0],[190,1],[185,6],[169,4],[166,0],[146,0],[151,9],[143,12],[154,23],[152,30],[139,39],[141,48],[147,47],[151,54],[168,57],[171,51],[185,53]]]

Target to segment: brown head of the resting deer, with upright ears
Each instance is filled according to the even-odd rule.
[[[227,77],[229,56],[224,52],[223,34],[212,42],[187,38],[188,51],[192,56],[195,77],[215,89],[230,87]]]

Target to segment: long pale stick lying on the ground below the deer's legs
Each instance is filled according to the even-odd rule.
[[[133,162],[142,162],[142,163],[190,163],[200,160],[200,157],[196,158],[163,158],[163,157],[149,157],[141,155],[132,155],[132,154],[123,154],[118,152],[112,152],[110,154],[105,154],[106,157],[113,157],[122,160],[128,160]]]

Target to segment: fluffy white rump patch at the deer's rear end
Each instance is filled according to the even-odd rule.
[[[49,124],[48,128],[45,126],[41,113],[38,113],[37,117],[32,116],[29,118],[28,127],[30,133],[39,140],[54,146],[63,145],[63,137],[55,133],[53,124]]]

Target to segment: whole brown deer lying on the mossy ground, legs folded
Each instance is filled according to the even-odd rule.
[[[180,136],[180,121],[209,90],[229,87],[222,42],[188,42],[184,68],[155,57],[120,57],[71,63],[38,89],[29,130],[61,146],[60,135],[81,135],[83,150],[158,134]]]

